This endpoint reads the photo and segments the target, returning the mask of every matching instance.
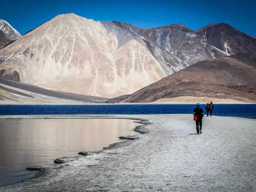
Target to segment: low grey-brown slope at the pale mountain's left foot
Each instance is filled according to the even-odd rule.
[[[47,90],[32,84],[0,78],[0,104],[85,104],[106,100],[101,97]]]

